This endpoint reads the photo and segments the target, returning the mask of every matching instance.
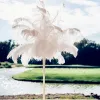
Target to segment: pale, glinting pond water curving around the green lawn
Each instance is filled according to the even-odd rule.
[[[12,75],[28,68],[0,69],[0,95],[42,94],[42,83],[24,82],[12,79]],[[100,95],[100,84],[46,84],[47,93],[96,93]]]

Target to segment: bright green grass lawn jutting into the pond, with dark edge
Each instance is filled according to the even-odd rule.
[[[13,78],[23,81],[42,82],[42,69],[33,68],[32,70],[14,75]],[[100,83],[100,68],[47,68],[46,82]]]

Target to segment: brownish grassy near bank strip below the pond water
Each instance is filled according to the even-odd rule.
[[[0,99],[42,99],[41,95],[35,94],[25,94],[25,95],[7,95],[7,96],[0,96]],[[93,94],[91,95],[84,95],[84,94],[47,94],[46,99],[49,100],[66,100],[66,99],[85,99],[85,100],[98,100],[100,99],[100,95]]]

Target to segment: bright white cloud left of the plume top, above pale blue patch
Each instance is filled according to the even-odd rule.
[[[22,2],[0,2],[0,19],[11,22],[18,17],[28,17],[32,13],[33,7],[34,4],[27,5]]]

